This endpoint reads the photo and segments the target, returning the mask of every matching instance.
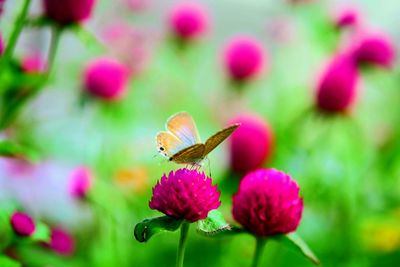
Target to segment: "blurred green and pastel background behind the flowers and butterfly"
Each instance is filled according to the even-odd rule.
[[[0,21],[5,43],[22,2],[5,1]],[[269,125],[274,138],[263,166],[283,170],[298,182],[305,210],[297,232],[323,266],[398,266],[396,59],[390,68],[360,67],[357,99],[348,112],[321,112],[315,94],[324,66],[359,32],[382,33],[394,50],[399,48],[400,2],[203,0],[197,3],[205,7],[209,27],[185,44],[168,20],[178,3],[98,0],[81,27],[62,34],[43,90],[3,129],[2,138],[35,152],[33,159],[1,158],[3,217],[9,210],[24,210],[62,227],[74,241],[68,255],[22,242],[12,250],[18,261],[23,266],[174,266],[178,232],[142,244],[133,229],[144,218],[161,215],[148,207],[151,188],[179,166],[158,155],[155,135],[168,117],[187,111],[203,140],[243,113]],[[361,26],[338,29],[336,18],[349,6]],[[33,1],[29,13],[40,16],[41,1]],[[241,85],[230,80],[223,61],[225,45],[239,35],[258,40],[265,52],[262,71]],[[32,54],[45,59],[49,38],[48,27],[25,28],[16,59]],[[131,70],[126,94],[118,101],[83,96],[85,66],[104,56]],[[229,153],[228,140],[211,153],[209,168],[220,185],[221,210],[234,224],[231,194],[240,175],[233,173]],[[84,200],[68,191],[79,166],[94,177]],[[185,266],[250,265],[251,236],[209,238],[192,228]],[[274,241],[267,244],[261,264],[311,265]]]

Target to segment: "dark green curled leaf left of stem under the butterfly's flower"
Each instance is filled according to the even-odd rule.
[[[139,242],[147,242],[153,235],[164,231],[176,231],[182,224],[183,220],[176,220],[168,216],[161,216],[136,224],[135,238]]]

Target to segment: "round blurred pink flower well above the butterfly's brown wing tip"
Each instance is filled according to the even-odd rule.
[[[234,81],[254,78],[262,71],[265,61],[263,47],[250,37],[234,38],[224,49],[225,69]]]

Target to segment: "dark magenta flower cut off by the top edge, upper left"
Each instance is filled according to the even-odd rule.
[[[88,19],[95,0],[43,0],[46,18],[60,25],[79,23]]]

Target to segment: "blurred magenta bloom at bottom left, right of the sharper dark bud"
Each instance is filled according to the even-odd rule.
[[[60,255],[69,256],[75,251],[75,241],[64,229],[53,228],[49,248]]]

